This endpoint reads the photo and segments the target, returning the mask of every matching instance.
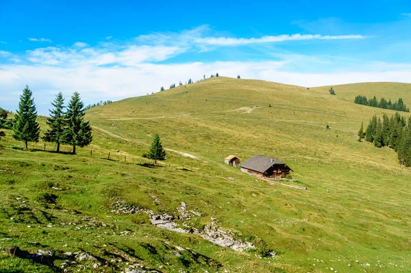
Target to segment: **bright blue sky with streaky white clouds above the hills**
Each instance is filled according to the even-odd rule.
[[[0,0],[0,107],[26,84],[86,104],[212,73],[299,86],[411,82],[410,1]]]

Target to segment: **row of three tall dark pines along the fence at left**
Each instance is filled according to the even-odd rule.
[[[12,136],[15,140],[23,141],[24,151],[27,151],[28,142],[38,142],[40,139],[40,125],[37,122],[36,104],[32,95],[32,90],[26,86],[14,115]],[[49,109],[50,117],[47,118],[49,129],[41,137],[42,140],[57,144],[58,152],[60,144],[69,144],[73,146],[73,154],[76,146],[84,147],[92,142],[90,122],[84,120],[85,108],[79,93],[73,93],[66,112],[61,92],[51,105],[53,109]]]

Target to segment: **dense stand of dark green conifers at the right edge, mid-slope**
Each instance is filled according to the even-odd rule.
[[[358,141],[365,138],[366,142],[372,142],[377,148],[393,148],[397,152],[401,166],[411,166],[411,117],[407,122],[398,112],[391,118],[386,114],[383,114],[382,118],[374,115],[365,131],[364,124],[361,123],[358,137]]]

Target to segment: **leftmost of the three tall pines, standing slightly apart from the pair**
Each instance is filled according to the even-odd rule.
[[[40,126],[37,119],[36,105],[32,99],[32,90],[26,86],[23,94],[20,96],[18,110],[14,116],[13,138],[24,141],[24,151],[27,151],[27,142],[38,142],[40,135]]]

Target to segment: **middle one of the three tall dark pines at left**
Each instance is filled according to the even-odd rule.
[[[45,142],[55,142],[57,144],[57,151],[60,152],[60,143],[62,143],[63,133],[64,133],[64,99],[62,92],[59,92],[55,96],[53,103],[54,109],[50,110],[50,117],[47,118],[47,125],[50,129],[45,132],[45,136],[42,139]]]

